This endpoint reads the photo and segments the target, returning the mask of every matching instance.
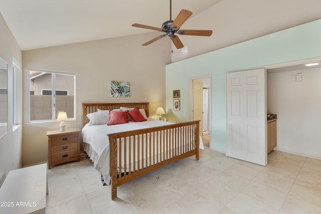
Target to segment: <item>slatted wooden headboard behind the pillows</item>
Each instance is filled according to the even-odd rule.
[[[135,108],[139,107],[145,109],[147,117],[149,117],[149,103],[83,103],[83,126],[88,123],[87,114],[96,112],[97,109],[119,109],[120,107]]]

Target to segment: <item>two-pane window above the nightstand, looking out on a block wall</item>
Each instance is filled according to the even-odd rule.
[[[29,122],[75,117],[75,74],[29,70]]]

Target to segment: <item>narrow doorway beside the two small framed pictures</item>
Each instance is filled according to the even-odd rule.
[[[211,136],[211,88],[212,88],[212,75],[199,76],[190,78],[190,120],[194,119],[194,88],[193,81],[201,81],[203,83],[202,101],[203,101],[203,116],[202,116],[202,139],[204,146],[211,147],[210,136]],[[200,98],[197,98],[200,99]]]

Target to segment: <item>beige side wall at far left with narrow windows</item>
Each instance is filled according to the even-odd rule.
[[[8,83],[13,81],[13,57],[17,60],[17,63],[21,62],[21,50],[8,28],[4,18],[0,13],[0,58],[8,63]],[[22,84],[21,73],[18,73],[18,82],[20,86]],[[22,103],[22,91],[18,88],[18,103]],[[0,185],[3,183],[6,175],[12,169],[20,168],[22,165],[22,126],[16,126],[13,128],[13,87],[12,84],[8,84],[8,133],[0,138]],[[18,123],[21,124],[21,112],[22,106],[17,106]]]

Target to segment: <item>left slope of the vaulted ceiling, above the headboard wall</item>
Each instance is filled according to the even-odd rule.
[[[173,0],[172,19],[220,1]],[[152,32],[131,25],[160,28],[170,20],[170,0],[0,0],[0,12],[20,48],[31,50]]]

